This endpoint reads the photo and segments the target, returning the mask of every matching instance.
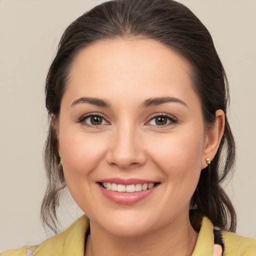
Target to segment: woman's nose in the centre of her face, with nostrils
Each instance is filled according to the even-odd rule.
[[[146,161],[146,154],[142,137],[134,125],[120,127],[113,133],[106,154],[108,164],[120,169],[142,166]]]

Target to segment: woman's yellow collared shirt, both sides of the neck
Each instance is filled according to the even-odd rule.
[[[39,245],[23,246],[7,250],[0,256],[83,256],[85,234],[89,228],[88,218],[83,215],[63,232]],[[225,250],[223,256],[256,256],[256,238],[222,232]],[[213,225],[207,217],[202,218],[201,228],[191,256],[212,256]]]

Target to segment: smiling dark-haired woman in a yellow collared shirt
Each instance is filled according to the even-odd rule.
[[[189,9],[96,6],[65,30],[45,93],[42,220],[56,229],[65,186],[88,218],[2,256],[256,253],[220,187],[235,157],[224,69]]]

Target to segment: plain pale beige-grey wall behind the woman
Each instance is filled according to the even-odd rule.
[[[0,251],[46,238],[39,219],[47,132],[43,84],[64,28],[101,0],[0,0]],[[230,83],[237,232],[256,237],[256,1],[180,0],[211,32]],[[62,228],[82,214],[69,196]],[[51,233],[47,233],[47,236]]]

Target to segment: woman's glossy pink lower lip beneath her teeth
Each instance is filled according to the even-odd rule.
[[[149,196],[151,193],[153,193],[155,188],[158,186],[158,185],[155,185],[150,189],[141,190],[138,192],[117,192],[117,191],[107,190],[103,188],[99,183],[97,184],[102,194],[105,197],[107,197],[113,202],[121,203],[121,204],[132,204],[132,203],[138,202],[146,198],[147,196]]]

